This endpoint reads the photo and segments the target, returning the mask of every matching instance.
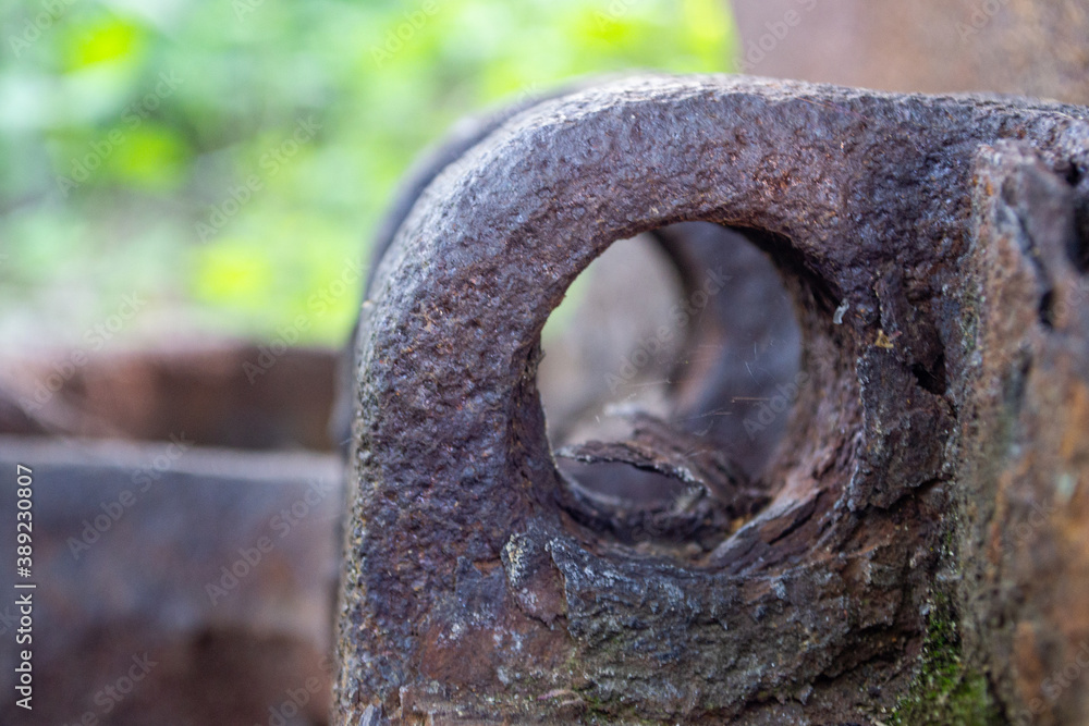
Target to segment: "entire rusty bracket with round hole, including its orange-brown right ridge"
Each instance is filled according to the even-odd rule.
[[[357,331],[334,723],[1089,717],[1045,688],[1089,639],[1087,114],[638,76],[433,156]],[[694,221],[775,263],[796,401],[744,466],[685,417],[564,452],[686,493],[617,505],[558,465],[540,332],[616,239],[733,254]],[[681,378],[687,413],[745,385]]]

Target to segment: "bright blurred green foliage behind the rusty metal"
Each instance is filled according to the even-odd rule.
[[[400,175],[574,75],[726,69],[724,0],[23,0],[0,10],[0,334],[341,341]],[[308,130],[308,131],[307,131]],[[337,290],[342,290],[335,286]],[[308,304],[308,300],[310,302]]]

